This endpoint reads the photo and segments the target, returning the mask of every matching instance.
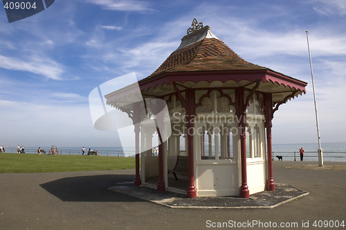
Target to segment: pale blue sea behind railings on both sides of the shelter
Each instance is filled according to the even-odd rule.
[[[346,143],[321,143],[323,152],[323,161],[343,161],[346,162]],[[100,156],[109,157],[134,157],[134,148],[122,147],[93,147],[85,146],[86,150],[98,150]],[[317,143],[299,143],[299,144],[273,144],[273,159],[277,161],[275,156],[282,156],[283,161],[300,161],[299,149],[304,149],[304,161],[318,161],[318,144]],[[51,150],[51,146],[41,147],[46,153]],[[82,154],[82,146],[80,147],[59,147],[59,154]],[[6,147],[6,152],[17,152],[17,147]],[[25,148],[26,153],[37,153],[37,147]]]

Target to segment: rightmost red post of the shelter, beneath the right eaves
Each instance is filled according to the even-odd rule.
[[[275,191],[275,183],[273,179],[273,156],[271,148],[271,127],[273,126],[271,120],[273,119],[273,101],[271,94],[264,94],[265,103],[265,118],[266,122],[264,126],[266,127],[266,148],[267,148],[267,163],[268,163],[268,179],[266,181],[266,190]]]

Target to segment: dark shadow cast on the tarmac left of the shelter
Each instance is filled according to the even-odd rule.
[[[40,184],[48,193],[64,202],[138,202],[136,197],[114,193],[108,188],[115,184],[132,184],[134,175],[93,175],[65,177]]]

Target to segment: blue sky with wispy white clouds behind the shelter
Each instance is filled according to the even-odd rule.
[[[154,72],[196,17],[249,62],[309,83],[275,112],[273,143],[346,141],[346,1],[56,0],[8,23],[0,9],[0,144],[118,146],[93,129],[88,96],[117,76]],[[323,147],[323,146],[322,146]]]

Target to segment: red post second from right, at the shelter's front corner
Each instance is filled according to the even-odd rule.
[[[240,130],[240,157],[242,161],[242,186],[240,186],[239,197],[249,198],[248,182],[246,175],[246,113],[244,109],[244,88],[236,90],[237,117]]]

